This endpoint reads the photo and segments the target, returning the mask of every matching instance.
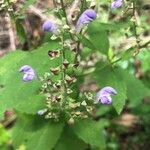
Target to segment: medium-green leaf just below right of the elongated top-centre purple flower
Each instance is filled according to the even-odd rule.
[[[90,42],[94,45],[96,50],[107,55],[109,50],[108,33],[100,22],[93,21],[88,26],[88,35]]]

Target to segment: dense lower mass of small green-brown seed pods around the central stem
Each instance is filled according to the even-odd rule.
[[[67,86],[66,97],[64,101],[62,93],[62,81],[54,81],[52,73],[45,73],[41,78],[43,82],[41,92],[46,95],[46,108],[37,112],[38,115],[44,116],[45,119],[53,119],[60,121],[61,116],[65,116],[70,124],[76,119],[88,118],[94,110],[93,95],[91,93],[83,93],[80,95],[81,101],[76,101],[71,97],[72,89],[71,81]]]

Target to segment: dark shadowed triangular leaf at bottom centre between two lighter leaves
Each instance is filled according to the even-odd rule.
[[[76,150],[77,147],[78,150],[83,150],[87,148],[87,144],[80,140],[70,127],[66,126],[55,150]]]

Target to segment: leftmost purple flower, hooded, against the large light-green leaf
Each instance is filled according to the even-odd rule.
[[[24,73],[23,81],[31,81],[36,78],[34,69],[28,65],[22,66],[19,71]]]

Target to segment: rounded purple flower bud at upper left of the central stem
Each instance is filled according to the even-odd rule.
[[[47,31],[47,32],[56,32],[56,30],[57,30],[56,25],[50,20],[46,20],[43,23],[42,28],[44,31]]]

